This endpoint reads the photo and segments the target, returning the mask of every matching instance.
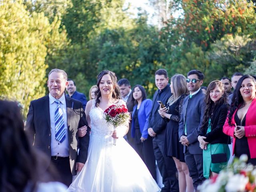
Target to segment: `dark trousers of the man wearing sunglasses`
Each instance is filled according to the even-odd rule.
[[[203,172],[203,155],[190,154],[188,149],[186,149],[185,162],[188,165],[189,175],[193,180],[193,185],[196,190],[197,186],[205,180]]]

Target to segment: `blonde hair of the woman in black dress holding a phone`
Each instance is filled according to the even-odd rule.
[[[171,78],[172,83],[172,96],[168,99],[168,104],[171,106],[174,104],[180,96],[183,94],[188,94],[188,86],[186,82],[186,77],[182,74],[175,74]]]

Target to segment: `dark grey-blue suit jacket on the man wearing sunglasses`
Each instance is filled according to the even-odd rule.
[[[179,122],[179,138],[182,135],[185,135],[184,128],[186,121],[187,139],[190,143],[188,145],[188,150],[190,154],[202,154],[203,152],[199,147],[197,137],[201,133],[200,128],[204,118],[204,110],[206,105],[204,98],[205,94],[202,92],[202,89],[200,89],[198,93],[192,96],[192,98],[189,98],[189,95],[186,96],[183,102],[182,114],[180,115]],[[185,148],[186,146],[184,146],[184,151]]]

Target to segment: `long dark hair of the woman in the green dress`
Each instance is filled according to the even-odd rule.
[[[223,92],[222,97],[215,103],[211,100],[210,98],[210,91],[214,90],[218,86],[220,90]],[[204,112],[204,118],[201,126],[201,131],[205,131],[208,126],[208,121],[212,116],[212,113],[214,112],[214,109],[217,106],[222,105],[223,103],[227,102],[227,94],[224,92],[224,85],[221,81],[215,80],[210,82],[207,90],[206,90],[206,95],[205,95],[205,102],[206,102],[206,108]]]

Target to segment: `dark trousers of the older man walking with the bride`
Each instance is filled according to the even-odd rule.
[[[62,182],[66,186],[70,186],[70,184],[72,183],[73,176],[70,170],[69,157],[57,158],[56,160],[52,158],[51,162],[58,171],[58,181]]]

